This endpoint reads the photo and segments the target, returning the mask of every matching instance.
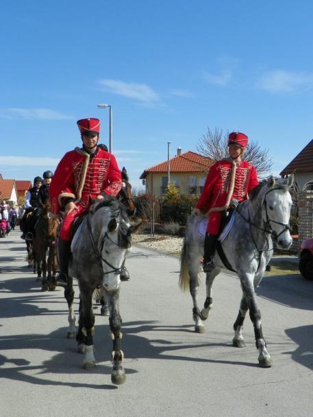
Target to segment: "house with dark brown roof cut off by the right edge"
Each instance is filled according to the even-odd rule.
[[[310,182],[312,184],[308,186],[308,189],[313,189],[313,139],[297,154],[297,157],[288,163],[279,175],[284,178],[292,173],[295,174],[300,189],[303,189]]]

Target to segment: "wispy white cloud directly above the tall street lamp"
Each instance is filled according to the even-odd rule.
[[[103,79],[99,81],[104,90],[112,94],[134,98],[141,103],[158,103],[160,96],[149,85],[125,83],[124,81]]]

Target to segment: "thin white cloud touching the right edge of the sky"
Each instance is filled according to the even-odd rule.
[[[255,82],[255,87],[271,93],[289,93],[313,88],[313,73],[273,70]]]

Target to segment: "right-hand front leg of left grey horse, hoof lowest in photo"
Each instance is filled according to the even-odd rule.
[[[125,370],[123,368],[122,362],[124,359],[124,353],[121,350],[121,327],[122,327],[122,319],[121,314],[119,312],[119,290],[112,291],[108,293],[108,304],[110,308],[110,330],[111,330],[111,337],[113,341],[113,351],[112,351],[112,373],[111,373],[111,381],[112,384],[121,385],[124,384],[126,380]]]

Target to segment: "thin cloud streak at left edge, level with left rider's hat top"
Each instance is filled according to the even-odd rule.
[[[24,119],[24,120],[73,120],[73,116],[59,113],[51,109],[21,109],[20,107],[9,107],[0,109],[0,118],[3,119]]]

